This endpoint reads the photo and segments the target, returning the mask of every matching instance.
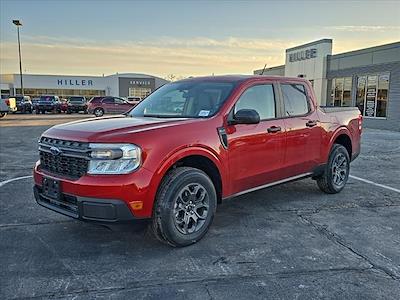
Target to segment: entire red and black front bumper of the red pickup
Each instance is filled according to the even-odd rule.
[[[36,163],[33,175],[36,201],[64,215],[106,222],[147,219],[152,216],[156,189],[151,185],[153,173],[144,168],[125,175],[86,174],[79,179],[68,179],[48,173]],[[43,195],[44,178],[59,181],[60,200],[48,199]],[[141,208],[132,207],[137,202],[142,203]]]

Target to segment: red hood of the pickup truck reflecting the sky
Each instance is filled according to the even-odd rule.
[[[148,118],[113,116],[93,118],[56,125],[43,133],[44,136],[82,142],[106,142],[119,136],[163,127],[177,126],[202,119]]]

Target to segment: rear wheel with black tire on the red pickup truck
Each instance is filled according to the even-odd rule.
[[[341,161],[343,163],[341,164]],[[340,167],[338,164],[341,164]],[[334,144],[329,154],[324,173],[317,177],[317,184],[321,191],[327,194],[339,193],[345,187],[350,173],[350,156],[347,149]]]

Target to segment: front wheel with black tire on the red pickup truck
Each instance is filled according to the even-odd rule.
[[[198,189],[196,189],[197,187]],[[193,190],[191,190],[192,188]],[[182,196],[185,194],[186,202],[183,202],[184,197]],[[191,199],[195,199],[197,195],[200,195],[199,198],[202,199],[193,200],[192,204]],[[187,204],[186,208],[183,207],[184,203]],[[190,205],[193,208],[191,211],[191,208],[187,209]],[[207,233],[214,219],[216,208],[217,193],[207,174],[189,167],[173,169],[168,172],[158,189],[154,204],[152,231],[156,238],[163,243],[173,247],[189,246]],[[200,217],[199,210],[202,217]],[[191,228],[194,226],[192,232],[189,232],[188,226],[181,227],[185,223],[185,219],[188,224],[192,224]]]

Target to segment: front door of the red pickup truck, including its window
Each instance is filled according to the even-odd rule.
[[[258,124],[228,125],[228,155],[232,194],[249,190],[282,178],[280,168],[285,153],[285,124],[272,83],[247,87],[233,108],[254,109]],[[279,111],[279,112],[278,112]]]

